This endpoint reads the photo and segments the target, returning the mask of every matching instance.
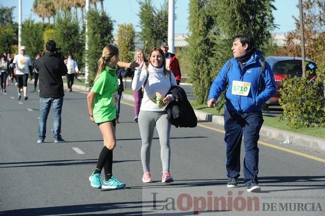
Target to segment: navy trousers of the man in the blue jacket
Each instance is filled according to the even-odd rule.
[[[238,178],[240,175],[240,152],[244,136],[244,183],[258,183],[260,129],[264,122],[262,112],[242,113],[225,108],[225,142],[227,146],[226,169],[229,178]]]

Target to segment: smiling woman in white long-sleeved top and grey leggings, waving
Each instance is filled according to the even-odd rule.
[[[166,104],[174,100],[172,95],[166,95],[171,86],[177,85],[175,76],[166,69],[164,52],[155,47],[149,54],[149,65],[142,69],[144,62],[136,68],[132,80],[132,90],[138,90],[143,85],[144,94],[139,113],[139,129],[142,140],[141,161],[143,167],[142,182],[152,182],[150,173],[150,147],[155,127],[160,141],[160,157],[162,162],[162,182],[173,182],[170,175],[170,128],[167,120]],[[160,96],[159,96],[160,95]],[[162,96],[162,97],[161,97]],[[161,99],[161,100],[160,100]]]

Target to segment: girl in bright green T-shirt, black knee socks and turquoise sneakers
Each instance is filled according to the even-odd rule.
[[[98,60],[98,71],[91,91],[88,93],[89,118],[96,123],[104,138],[95,171],[89,177],[90,185],[94,188],[118,189],[125,184],[112,175],[113,149],[116,146],[115,118],[117,105],[118,81],[116,77],[119,61],[118,48],[107,44]],[[104,168],[105,178],[100,176]]]

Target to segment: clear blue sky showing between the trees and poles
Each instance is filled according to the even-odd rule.
[[[41,19],[33,12],[31,12],[33,0],[22,1],[22,20],[28,19],[30,14],[32,19],[36,22]],[[152,0],[157,7],[163,0]],[[177,19],[175,20],[175,33],[188,33],[188,2],[189,0],[176,0],[175,13]],[[275,23],[278,24],[279,29],[274,32],[288,32],[295,29],[295,22],[292,16],[299,16],[299,9],[296,7],[299,0],[275,0],[274,5],[278,10],[274,11]],[[18,21],[18,0],[0,0],[2,6],[16,6],[13,11],[14,20]],[[100,8],[100,5],[97,5]],[[115,20],[114,32],[118,28],[118,24],[132,23],[136,31],[140,31],[138,11],[139,6],[136,0],[104,0],[104,8],[109,16]],[[79,13],[80,14],[80,13]]]

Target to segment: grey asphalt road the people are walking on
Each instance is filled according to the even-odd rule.
[[[325,216],[325,161],[313,158],[324,160],[324,153],[295,146],[283,151],[272,147],[284,148],[278,141],[262,137],[262,192],[246,192],[242,179],[238,188],[228,189],[224,134],[211,123],[200,122],[196,128],[172,126],[175,181],[171,184],[161,183],[155,133],[151,148],[154,182],[143,184],[141,139],[127,101],[121,106],[113,158],[113,175],[126,188],[94,189],[88,177],[103,143],[97,125],[89,121],[86,94],[66,93],[61,134],[68,142],[58,144],[53,143],[51,113],[45,143],[36,143],[38,93],[28,93],[28,98],[17,100],[14,86],[0,93],[1,216]]]

